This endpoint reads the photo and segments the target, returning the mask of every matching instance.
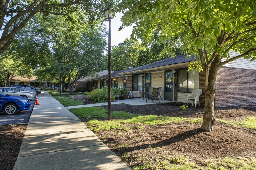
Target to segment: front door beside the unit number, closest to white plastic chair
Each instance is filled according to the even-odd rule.
[[[165,71],[165,100],[173,101],[173,74],[172,71]]]

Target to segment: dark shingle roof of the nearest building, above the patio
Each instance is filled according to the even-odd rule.
[[[191,55],[190,59],[186,59],[186,56],[187,56],[187,54],[178,55],[178,56],[175,56],[172,58],[166,58],[166,59],[154,62],[154,63],[146,64],[146,65],[143,65],[140,67],[131,68],[129,71],[123,71],[123,73],[194,61],[194,55]]]

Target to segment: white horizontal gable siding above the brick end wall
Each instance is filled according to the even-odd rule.
[[[238,52],[231,51],[229,52],[230,57],[233,58],[237,55],[240,55]],[[226,59],[222,59],[221,61],[225,61]],[[252,69],[256,70],[256,61],[245,60],[243,58],[236,59],[230,63],[225,64],[223,67],[233,67],[233,68],[241,68],[241,69]]]

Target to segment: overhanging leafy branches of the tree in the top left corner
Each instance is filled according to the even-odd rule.
[[[18,33],[33,18],[40,13],[44,19],[49,14],[65,16],[67,20],[78,25],[94,25],[102,19],[102,11],[113,5],[112,1],[97,0],[0,0],[0,55],[15,40]],[[73,18],[73,12],[83,12],[79,18]]]

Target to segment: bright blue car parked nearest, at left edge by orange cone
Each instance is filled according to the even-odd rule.
[[[28,110],[30,106],[28,98],[10,96],[0,92],[0,112],[4,112],[5,115],[14,115],[18,110]]]

